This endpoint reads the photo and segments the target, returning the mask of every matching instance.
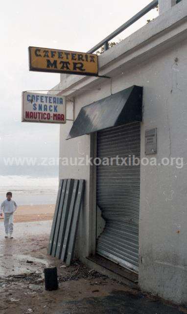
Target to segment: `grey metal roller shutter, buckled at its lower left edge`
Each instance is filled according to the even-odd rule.
[[[132,165],[132,156],[140,158],[140,123],[97,132],[97,157],[129,155],[131,165],[113,161],[113,165],[97,166],[97,205],[106,225],[97,239],[96,251],[138,271],[140,165]],[[118,164],[121,161],[118,159]]]

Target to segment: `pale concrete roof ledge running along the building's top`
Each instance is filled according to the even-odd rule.
[[[184,27],[181,29],[180,26],[183,24]],[[173,29],[175,30],[174,33],[172,32]],[[179,34],[180,32],[184,32],[184,30],[187,30],[187,1],[181,1],[177,5],[174,5],[170,10],[158,16],[155,20],[141,27],[136,32],[125,38],[122,42],[100,55],[98,57],[99,75],[109,75],[113,68],[111,68],[112,64],[115,65],[115,63],[119,63],[117,62],[118,60],[124,62],[123,56],[126,54],[128,54],[129,62],[130,59],[135,57],[132,56],[132,58],[130,58],[130,54],[133,55],[134,51],[139,47],[142,48],[142,46],[148,45],[151,41],[154,41],[154,39],[158,39],[159,36],[163,36],[166,33],[168,34],[168,36],[163,38],[162,43],[164,43],[164,41],[169,40],[169,37],[175,38],[177,32]],[[160,44],[161,43],[157,43],[156,40],[155,45]],[[136,57],[138,57],[138,53]],[[119,64],[117,66],[119,66]],[[97,82],[100,82],[101,79],[103,78],[82,77],[76,75],[70,75],[67,77],[67,75],[64,74],[61,75],[61,82],[57,86],[60,86],[61,89],[84,89],[84,87],[86,88],[87,86],[91,86],[93,83],[97,84]],[[63,94],[67,96],[74,96],[76,91],[69,90],[66,93],[63,92]]]

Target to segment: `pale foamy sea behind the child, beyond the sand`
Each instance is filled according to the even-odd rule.
[[[55,204],[58,192],[58,177],[36,177],[29,175],[0,176],[0,203],[11,191],[18,205]]]

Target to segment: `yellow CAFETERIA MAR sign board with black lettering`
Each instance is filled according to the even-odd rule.
[[[97,54],[28,47],[29,70],[79,75],[98,75]]]

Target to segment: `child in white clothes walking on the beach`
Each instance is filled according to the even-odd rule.
[[[4,213],[4,228],[5,228],[5,236],[13,238],[13,219],[14,219],[14,211],[17,209],[17,204],[12,198],[12,192],[6,193],[6,200],[2,202],[0,205],[0,216],[2,216],[2,212]]]

